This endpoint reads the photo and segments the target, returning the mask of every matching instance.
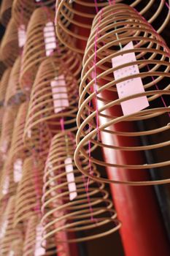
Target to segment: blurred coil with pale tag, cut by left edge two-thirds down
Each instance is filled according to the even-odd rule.
[[[14,173],[12,162],[8,159],[4,162],[0,181],[0,200],[15,195],[18,182]]]

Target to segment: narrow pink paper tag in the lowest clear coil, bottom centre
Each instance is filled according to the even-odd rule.
[[[75,184],[75,178],[74,178],[74,173],[73,173],[73,164],[72,164],[72,158],[67,157],[64,160],[64,163],[66,165],[66,178],[67,181],[69,182],[68,187],[69,187],[69,200],[74,200],[75,197],[77,197],[77,189],[76,189],[76,184]]]

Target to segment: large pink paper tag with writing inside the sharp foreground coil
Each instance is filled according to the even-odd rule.
[[[133,42],[129,42],[128,45],[125,45],[122,50],[128,49],[134,49]],[[115,68],[126,63],[130,64],[132,61],[136,61],[135,53],[125,53],[123,55],[112,58],[112,67]],[[117,69],[113,73],[116,80],[128,75],[139,74],[139,67],[138,65],[131,65],[128,67]],[[120,99],[122,99],[123,97],[144,92],[144,86],[141,78],[132,78],[129,80],[125,80],[121,83],[117,83],[116,87],[117,94]],[[147,108],[148,106],[149,102],[146,96],[129,99],[121,103],[124,116],[136,113],[144,108]]]

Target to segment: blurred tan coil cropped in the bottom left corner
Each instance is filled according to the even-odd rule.
[[[23,239],[23,226],[19,225],[17,228],[13,227],[14,211],[15,197],[10,197],[1,225],[0,249],[2,256],[8,255],[12,242],[17,241],[18,238],[20,238],[20,240]]]

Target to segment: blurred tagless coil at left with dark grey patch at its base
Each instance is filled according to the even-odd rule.
[[[21,57],[16,59],[15,64],[12,67],[9,76],[9,83],[7,86],[7,93],[5,95],[5,103],[7,104],[18,104],[26,99],[26,96],[20,89],[19,77],[20,77],[20,64]]]

